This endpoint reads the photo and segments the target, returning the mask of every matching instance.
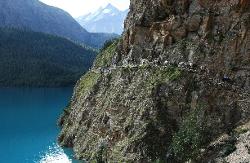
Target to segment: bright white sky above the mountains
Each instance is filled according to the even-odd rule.
[[[125,10],[129,7],[130,0],[40,0],[51,6],[59,7],[73,17],[85,15],[93,12],[100,7],[106,6],[111,3],[120,10]]]

